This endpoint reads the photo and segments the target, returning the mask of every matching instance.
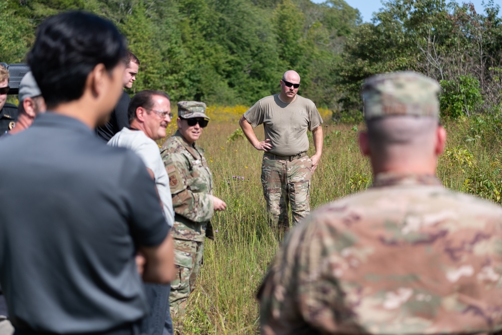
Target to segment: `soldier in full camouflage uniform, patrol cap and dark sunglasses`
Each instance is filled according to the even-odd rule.
[[[171,232],[178,274],[171,282],[169,303],[177,333],[183,332],[188,295],[202,265],[204,239],[214,239],[211,217],[214,210],[226,208],[224,201],[212,195],[212,174],[204,150],[195,144],[209,120],[205,110],[203,102],[178,102],[178,131],[161,148],[175,211]]]

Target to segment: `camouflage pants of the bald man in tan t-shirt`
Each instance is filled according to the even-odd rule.
[[[263,195],[273,227],[283,232],[289,230],[288,203],[291,204],[293,225],[310,213],[311,171],[312,161],[308,156],[291,162],[263,156]]]

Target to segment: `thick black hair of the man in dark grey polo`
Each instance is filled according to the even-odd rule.
[[[97,64],[111,70],[123,59],[126,40],[108,20],[67,12],[45,20],[27,56],[48,107],[79,99]]]

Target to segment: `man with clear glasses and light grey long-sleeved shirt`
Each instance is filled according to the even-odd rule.
[[[166,137],[166,127],[171,123],[173,115],[170,97],[162,91],[140,91],[131,100],[128,115],[131,127],[122,128],[108,141],[108,145],[131,149],[141,157],[155,181],[167,224],[173,227],[174,211],[169,177],[160,156],[159,146],[155,143],[155,140]],[[145,284],[150,310],[142,321],[142,333],[162,335],[164,330],[164,335],[173,333],[169,313],[169,291],[169,284]]]

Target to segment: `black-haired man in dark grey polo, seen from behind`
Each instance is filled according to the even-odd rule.
[[[121,93],[125,43],[109,21],[44,21],[28,63],[48,112],[0,141],[0,283],[16,334],[135,334],[143,280],[173,276],[154,181],[94,135]],[[111,172],[110,172],[111,171]]]

